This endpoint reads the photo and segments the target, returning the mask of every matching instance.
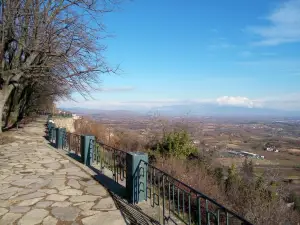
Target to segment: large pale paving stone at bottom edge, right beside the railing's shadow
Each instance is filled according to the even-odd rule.
[[[94,216],[82,219],[83,225],[125,225],[125,221],[119,211],[100,212]]]

